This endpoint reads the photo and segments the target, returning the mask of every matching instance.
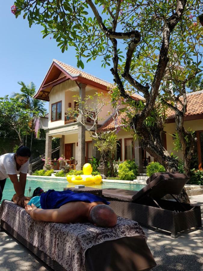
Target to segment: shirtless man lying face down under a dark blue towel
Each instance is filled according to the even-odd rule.
[[[16,194],[12,200],[17,203]],[[51,189],[27,200],[25,210],[32,219],[38,221],[91,222],[100,227],[113,227],[117,223],[117,215],[108,204],[106,199],[94,194]]]

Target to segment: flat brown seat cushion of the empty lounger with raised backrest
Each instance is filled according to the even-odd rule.
[[[138,191],[119,188],[106,188],[102,190],[102,195],[107,198],[115,198],[123,201],[132,201],[133,196]]]

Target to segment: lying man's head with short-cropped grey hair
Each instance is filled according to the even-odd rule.
[[[117,223],[117,215],[106,204],[98,204],[90,211],[90,220],[100,227],[113,227]]]

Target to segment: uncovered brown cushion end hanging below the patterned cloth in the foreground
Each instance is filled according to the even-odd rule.
[[[155,265],[142,236],[106,241],[85,253],[87,271],[144,271],[151,270]]]

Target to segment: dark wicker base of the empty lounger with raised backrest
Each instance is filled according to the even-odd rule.
[[[184,211],[183,209],[180,210],[180,205],[177,202],[157,200],[158,204],[163,208],[160,209],[146,205],[146,199],[145,202],[137,204],[108,197],[105,198],[110,201],[111,208],[118,216],[135,220],[145,226],[171,232],[171,237],[173,238],[179,236],[178,232],[192,227],[202,229],[200,206],[182,204],[186,208],[186,211]],[[177,212],[177,210],[180,212]]]

